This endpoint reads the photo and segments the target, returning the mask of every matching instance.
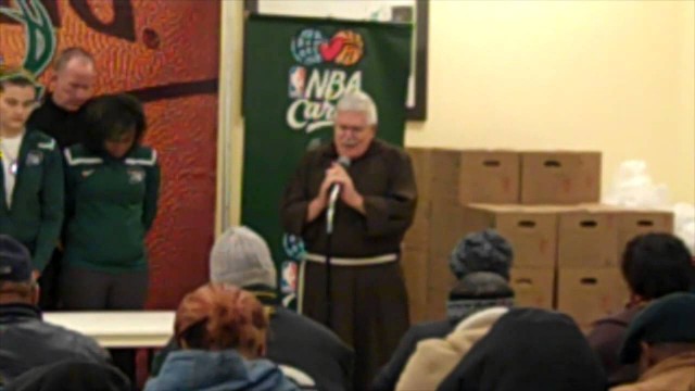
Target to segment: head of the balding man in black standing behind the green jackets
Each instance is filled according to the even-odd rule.
[[[65,111],[78,111],[94,93],[97,66],[85,49],[67,48],[53,63],[53,102]]]

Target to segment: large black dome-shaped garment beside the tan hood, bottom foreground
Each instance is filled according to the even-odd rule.
[[[466,354],[439,390],[604,391],[605,375],[567,315],[511,308]]]

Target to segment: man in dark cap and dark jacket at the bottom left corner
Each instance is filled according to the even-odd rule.
[[[0,235],[0,386],[59,361],[109,363],[94,340],[42,321],[38,297],[29,251]]]

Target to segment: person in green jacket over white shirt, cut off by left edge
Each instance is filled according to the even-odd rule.
[[[0,235],[29,249],[38,277],[58,244],[64,179],[55,140],[36,129],[27,131],[36,103],[31,76],[0,72]]]

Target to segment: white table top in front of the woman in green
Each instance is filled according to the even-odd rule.
[[[43,320],[81,332],[102,348],[162,348],[174,335],[173,311],[43,313]]]

